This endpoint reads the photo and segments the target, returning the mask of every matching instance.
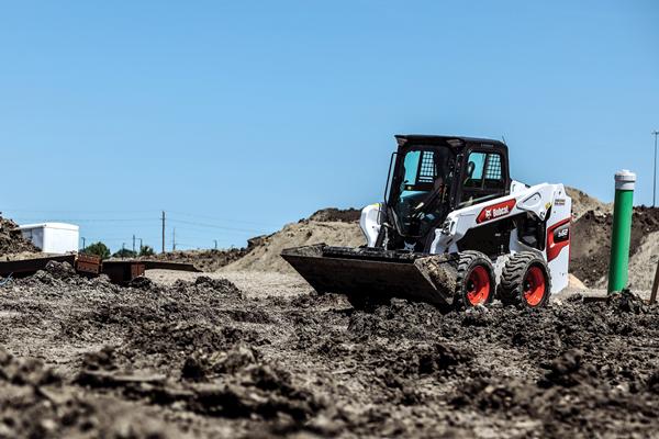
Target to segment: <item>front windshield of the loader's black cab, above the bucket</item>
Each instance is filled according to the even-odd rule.
[[[451,150],[443,146],[420,146],[400,158],[390,205],[401,235],[425,236],[444,219],[453,162]]]

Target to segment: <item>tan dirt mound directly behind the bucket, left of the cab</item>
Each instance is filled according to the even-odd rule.
[[[294,270],[279,256],[281,250],[320,243],[358,247],[366,240],[359,225],[355,223],[303,221],[289,224],[276,234],[263,238],[260,245],[226,269],[292,273]]]

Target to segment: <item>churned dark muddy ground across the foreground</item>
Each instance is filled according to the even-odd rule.
[[[120,288],[53,264],[0,288],[0,437],[659,429],[659,308],[633,296],[364,312],[284,274],[214,278]]]

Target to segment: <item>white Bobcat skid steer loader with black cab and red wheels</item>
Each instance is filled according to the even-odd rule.
[[[562,184],[511,180],[498,140],[399,135],[384,202],[365,207],[360,248],[281,256],[317,292],[356,307],[390,297],[539,307],[568,285],[571,199]],[[547,157],[547,160],[551,160]]]

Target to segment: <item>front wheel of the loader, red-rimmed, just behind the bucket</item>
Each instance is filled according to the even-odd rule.
[[[458,308],[468,308],[491,303],[494,300],[496,281],[490,258],[474,250],[461,251],[458,257],[454,304]],[[483,284],[483,281],[487,284]]]

